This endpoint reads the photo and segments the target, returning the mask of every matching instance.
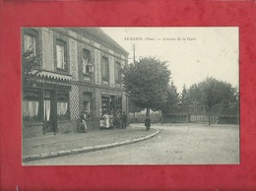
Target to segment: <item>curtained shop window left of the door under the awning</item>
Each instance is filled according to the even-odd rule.
[[[39,117],[39,90],[29,90],[24,93],[23,99],[23,120],[38,121]]]

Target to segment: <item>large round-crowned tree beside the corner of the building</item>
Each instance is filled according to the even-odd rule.
[[[166,61],[144,57],[123,69],[123,84],[129,99],[141,108],[160,110],[167,98],[170,71]]]

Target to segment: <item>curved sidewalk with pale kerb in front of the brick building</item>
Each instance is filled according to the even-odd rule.
[[[93,152],[143,141],[160,131],[146,131],[143,126],[126,129],[95,130],[88,133],[47,135],[23,140],[23,161],[48,159],[79,153]]]

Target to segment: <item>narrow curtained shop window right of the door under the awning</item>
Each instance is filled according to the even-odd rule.
[[[57,118],[69,119],[69,93],[67,92],[57,92]]]

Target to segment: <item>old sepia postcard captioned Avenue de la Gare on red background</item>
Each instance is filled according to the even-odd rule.
[[[22,28],[23,165],[239,164],[239,28]]]

